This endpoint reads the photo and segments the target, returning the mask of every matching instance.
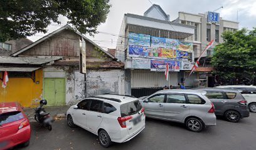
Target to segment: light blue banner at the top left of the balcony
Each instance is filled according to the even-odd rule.
[[[129,45],[150,47],[150,35],[129,32]]]

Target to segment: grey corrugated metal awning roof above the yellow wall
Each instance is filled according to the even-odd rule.
[[[0,56],[0,64],[45,64],[60,60],[61,56],[4,57]]]

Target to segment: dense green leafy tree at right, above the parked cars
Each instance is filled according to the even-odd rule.
[[[223,43],[215,47],[211,64],[222,83],[241,83],[243,78],[255,80],[256,28],[224,32]]]

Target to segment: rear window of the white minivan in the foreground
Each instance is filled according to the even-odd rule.
[[[132,114],[138,113],[142,109],[141,103],[139,100],[132,101],[120,106],[121,117],[129,116]]]

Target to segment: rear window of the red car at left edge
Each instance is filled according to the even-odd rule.
[[[19,119],[23,118],[24,116],[20,111],[13,111],[9,113],[0,114],[0,126],[3,126],[3,124],[18,121]]]

